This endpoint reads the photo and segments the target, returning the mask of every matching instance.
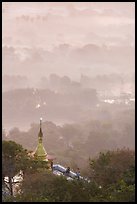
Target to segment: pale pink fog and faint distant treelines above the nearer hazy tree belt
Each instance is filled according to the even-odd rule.
[[[7,131],[28,130],[40,116],[63,125],[134,108],[132,3],[7,2],[2,12]]]

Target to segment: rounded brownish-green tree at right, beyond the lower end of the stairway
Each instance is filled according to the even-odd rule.
[[[131,166],[134,166],[134,151],[121,149],[100,152],[99,157],[90,161],[91,178],[99,185],[106,186],[117,183]]]

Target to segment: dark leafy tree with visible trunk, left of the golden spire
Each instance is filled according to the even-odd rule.
[[[27,176],[41,169],[48,168],[48,164],[43,161],[36,160],[29,155],[29,152],[22,147],[22,145],[15,143],[14,141],[2,142],[2,177],[3,184],[6,183],[6,187],[10,191],[10,195],[13,196],[13,186],[17,182],[14,181],[14,176],[20,171],[23,171],[23,177]],[[5,177],[8,180],[5,180]],[[20,182],[18,182],[20,183]]]

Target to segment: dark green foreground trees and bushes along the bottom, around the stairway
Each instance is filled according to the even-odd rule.
[[[90,182],[73,180],[53,175],[41,164],[32,166],[27,150],[12,141],[3,141],[3,176],[9,175],[5,169],[12,164],[24,170],[22,193],[9,196],[4,201],[17,202],[133,202],[135,191],[134,151],[118,149],[101,152],[89,160],[85,176]],[[25,161],[25,162],[24,162]],[[27,162],[26,162],[27,161]],[[6,168],[5,168],[6,167]],[[32,167],[32,168],[30,168]],[[43,167],[43,168],[42,168]],[[14,171],[13,173],[16,173]]]

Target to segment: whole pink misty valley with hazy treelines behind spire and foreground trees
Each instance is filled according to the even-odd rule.
[[[64,164],[134,149],[134,7],[3,2],[4,139],[34,149],[42,117],[44,145]]]

